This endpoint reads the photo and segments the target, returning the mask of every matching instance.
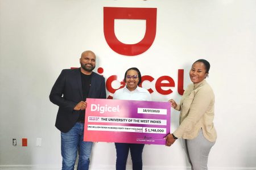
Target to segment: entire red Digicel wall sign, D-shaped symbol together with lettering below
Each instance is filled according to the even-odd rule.
[[[106,42],[114,52],[124,55],[124,56],[137,56],[146,52],[153,44],[156,35],[156,8],[126,8],[126,7],[104,7],[104,36]],[[114,32],[114,20],[115,19],[142,19],[146,20],[146,32],[141,41],[137,44],[124,44],[119,41],[115,36]],[[102,74],[104,69],[102,67],[98,68],[98,73]],[[177,80],[177,92],[183,95],[183,79],[184,70],[178,70],[178,80]],[[112,83],[117,80],[117,75],[109,76],[106,79],[106,89],[114,94],[116,90],[125,86],[125,82],[120,82],[121,86],[117,89],[112,87]],[[154,77],[150,75],[143,75],[142,82],[139,84],[142,87],[144,81],[153,82]],[[168,75],[160,76],[156,79],[155,90],[162,95],[169,95],[173,91],[171,88],[164,90],[162,87],[175,87],[174,79]],[[150,94],[154,92],[152,88],[147,89]],[[108,99],[112,99],[112,96],[108,96]]]

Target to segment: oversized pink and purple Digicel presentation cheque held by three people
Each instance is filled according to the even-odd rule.
[[[84,141],[165,145],[168,102],[86,99]]]

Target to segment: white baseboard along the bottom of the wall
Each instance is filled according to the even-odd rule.
[[[0,170],[60,170],[61,165],[0,165]],[[76,169],[76,167],[75,167]],[[106,165],[106,166],[97,166],[92,165],[89,168],[90,170],[113,170],[115,169],[114,165]],[[127,165],[127,170],[131,170],[132,167]],[[158,167],[148,167],[143,166],[143,169],[147,170],[190,170],[190,167],[171,167],[171,166],[158,166]],[[246,167],[208,167],[209,170],[256,170],[254,168],[246,168]]]

